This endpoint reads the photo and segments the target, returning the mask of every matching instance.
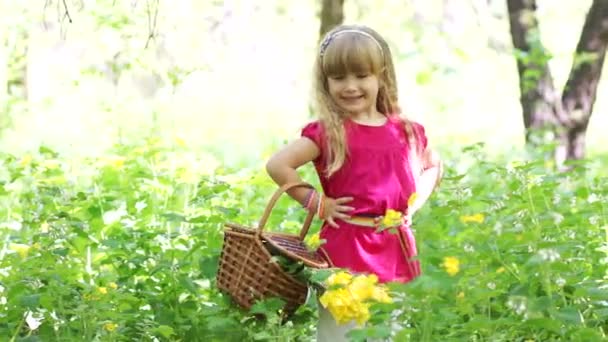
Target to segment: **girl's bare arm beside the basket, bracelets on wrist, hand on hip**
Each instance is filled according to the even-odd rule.
[[[270,178],[279,186],[287,183],[301,182],[302,179],[296,171],[297,168],[315,160],[320,153],[319,147],[312,140],[301,137],[270,157],[266,163],[266,171]],[[309,191],[310,189],[308,188],[296,187],[288,190],[287,194],[301,205],[304,205]],[[319,196],[317,196],[315,205],[312,206],[313,208],[318,204],[318,200]],[[324,201],[321,219],[327,220],[332,227],[338,227],[334,219],[348,219],[350,217],[347,213],[353,210],[353,208],[345,204],[352,201],[352,197],[337,199],[324,197]]]

